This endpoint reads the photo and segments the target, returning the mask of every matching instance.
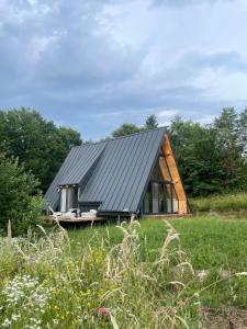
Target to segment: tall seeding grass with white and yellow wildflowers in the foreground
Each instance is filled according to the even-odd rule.
[[[145,240],[135,220],[119,226],[121,243],[91,230],[92,243],[76,252],[60,227],[49,235],[41,227],[44,237],[38,239],[31,234],[1,239],[0,326],[201,328],[199,295],[188,293],[193,268],[178,234],[166,225],[154,261],[143,261]]]

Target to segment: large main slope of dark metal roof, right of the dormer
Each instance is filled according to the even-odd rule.
[[[108,141],[80,202],[101,201],[102,212],[136,212],[165,128]]]

